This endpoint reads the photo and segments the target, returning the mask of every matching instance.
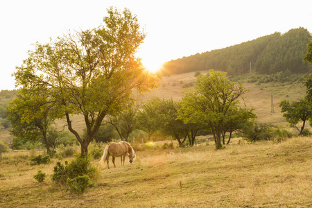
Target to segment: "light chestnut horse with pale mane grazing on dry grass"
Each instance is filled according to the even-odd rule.
[[[100,160],[100,163],[107,162],[107,167],[110,169],[110,166],[108,166],[108,159],[110,156],[112,156],[112,162],[116,168],[115,165],[115,157],[121,157],[121,166],[125,165],[125,155],[129,153],[129,162],[132,163],[135,159],[135,150],[133,150],[132,146],[126,141],[120,141],[119,143],[110,142],[105,146],[103,157]]]

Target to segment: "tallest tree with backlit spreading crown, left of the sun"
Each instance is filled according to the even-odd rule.
[[[109,8],[107,13],[104,25],[98,28],[35,44],[35,50],[14,74],[17,85],[23,88],[47,89],[55,107],[64,113],[83,156],[105,116],[123,110],[133,90],[145,92],[157,83],[135,58],[146,37],[137,17],[128,9],[119,12]],[[86,137],[73,129],[72,114],[84,117]]]

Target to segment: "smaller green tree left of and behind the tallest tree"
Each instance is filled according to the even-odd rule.
[[[47,137],[48,129],[58,117],[47,94],[39,88],[21,89],[17,98],[8,105],[8,117],[12,125],[10,134],[23,140],[42,141],[49,153],[52,144]]]

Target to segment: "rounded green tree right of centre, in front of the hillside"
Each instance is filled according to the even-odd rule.
[[[222,148],[221,135],[231,110],[239,106],[245,93],[243,85],[230,82],[227,73],[210,70],[196,80],[195,90],[182,98],[179,119],[186,123],[200,123],[214,134],[216,148]]]

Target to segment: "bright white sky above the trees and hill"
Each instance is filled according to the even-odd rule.
[[[128,8],[147,32],[138,56],[148,70],[196,53],[222,49],[300,26],[312,33],[311,0],[0,0],[0,89],[35,42],[99,26],[106,9]]]

